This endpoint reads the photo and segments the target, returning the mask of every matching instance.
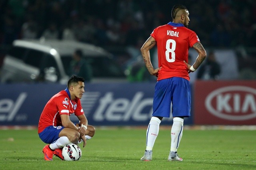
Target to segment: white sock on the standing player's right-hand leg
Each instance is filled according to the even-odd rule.
[[[174,117],[171,130],[171,151],[177,152],[182,137],[184,119]]]

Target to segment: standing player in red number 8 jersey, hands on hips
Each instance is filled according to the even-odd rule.
[[[146,132],[146,151],[140,160],[152,160],[152,149],[163,117],[170,117],[172,103],[173,124],[168,161],[182,161],[177,154],[183,131],[184,117],[190,116],[190,84],[188,73],[196,71],[206,58],[206,51],[196,33],[188,29],[189,13],[185,6],[172,8],[173,22],[154,29],[140,49],[151,75],[158,77],[153,99],[153,114]],[[157,44],[158,67],[154,69],[149,50]],[[198,52],[196,62],[188,64],[188,49]]]

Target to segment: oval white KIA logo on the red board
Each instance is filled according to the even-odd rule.
[[[205,100],[208,111],[232,121],[256,117],[256,89],[247,86],[226,86],[212,91]]]

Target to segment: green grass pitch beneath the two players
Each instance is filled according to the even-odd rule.
[[[182,162],[168,162],[170,130],[160,129],[152,161],[144,154],[145,128],[96,128],[95,136],[82,148],[78,161],[45,161],[44,144],[32,130],[0,130],[0,170],[168,170],[168,169],[256,169],[255,130],[183,131],[178,154]],[[82,147],[80,145],[80,147]]]

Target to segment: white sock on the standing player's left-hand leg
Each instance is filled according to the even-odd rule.
[[[151,117],[151,120],[148,124],[147,136],[146,136],[146,150],[152,150],[156,137],[159,132],[159,125],[161,120],[157,117]]]

